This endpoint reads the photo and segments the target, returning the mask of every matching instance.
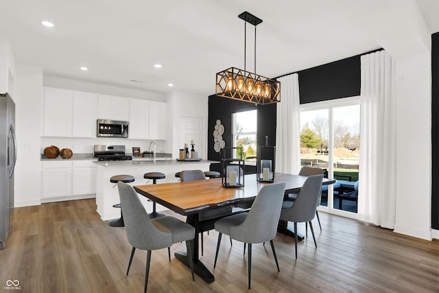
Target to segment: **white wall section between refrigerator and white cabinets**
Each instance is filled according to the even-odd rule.
[[[40,121],[43,69],[17,64],[15,80],[17,161],[15,207],[40,204]]]

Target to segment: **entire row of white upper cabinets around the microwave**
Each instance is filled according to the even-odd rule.
[[[130,139],[167,139],[167,103],[45,87],[43,137],[96,137],[96,120],[129,121]]]

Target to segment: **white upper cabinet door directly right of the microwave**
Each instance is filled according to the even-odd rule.
[[[150,124],[150,101],[145,99],[130,99],[130,139],[148,139]]]

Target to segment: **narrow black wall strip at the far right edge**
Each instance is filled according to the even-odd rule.
[[[431,228],[439,230],[439,32],[431,35]]]

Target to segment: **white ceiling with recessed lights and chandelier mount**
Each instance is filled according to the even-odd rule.
[[[0,0],[0,36],[17,62],[45,75],[210,95],[215,73],[244,69],[237,17],[244,11],[263,20],[257,73],[269,78],[383,47],[386,36],[412,38],[420,30],[416,15],[430,34],[439,32],[439,0]],[[248,71],[253,46],[247,25]]]

